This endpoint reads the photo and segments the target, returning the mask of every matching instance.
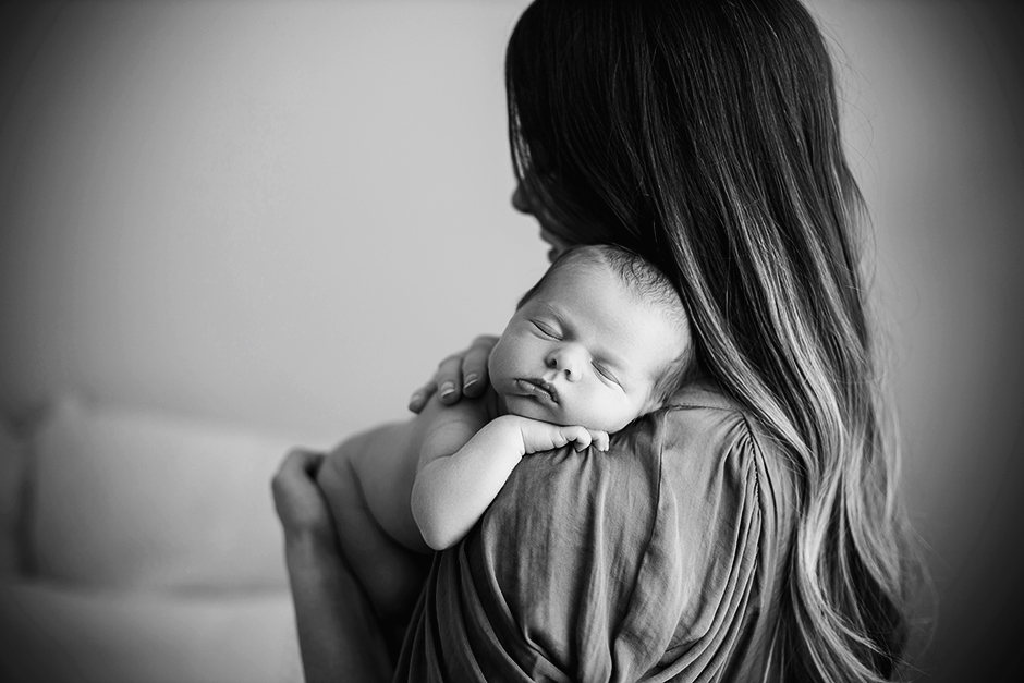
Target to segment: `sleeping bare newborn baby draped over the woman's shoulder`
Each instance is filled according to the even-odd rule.
[[[423,585],[423,557],[456,544],[520,460],[609,434],[660,407],[691,359],[683,303],[661,272],[612,246],[572,248],[520,301],[488,363],[491,386],[342,443],[317,480],[339,542],[381,619]]]

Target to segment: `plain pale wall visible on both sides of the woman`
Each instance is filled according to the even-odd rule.
[[[546,265],[509,206],[502,60],[524,4],[0,15],[3,410],[71,387],[338,437],[402,417]],[[814,7],[940,597],[919,679],[997,680],[1020,662],[1024,22],[968,0]]]

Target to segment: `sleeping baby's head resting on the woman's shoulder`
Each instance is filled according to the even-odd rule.
[[[510,413],[619,431],[660,407],[692,359],[690,319],[669,279],[607,245],[564,252],[490,355]]]

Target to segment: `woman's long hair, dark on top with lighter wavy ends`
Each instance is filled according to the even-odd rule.
[[[797,528],[769,678],[888,681],[916,566],[825,40],[797,0],[538,0],[505,62],[516,175],[573,243],[675,281],[700,370],[782,444]]]

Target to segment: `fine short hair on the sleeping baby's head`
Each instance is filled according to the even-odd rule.
[[[597,266],[611,270],[637,298],[663,313],[685,336],[683,352],[659,374],[653,389],[659,401],[666,401],[685,383],[694,365],[690,316],[672,281],[649,260],[624,247],[611,244],[574,246],[562,252],[540,280],[523,294],[516,310],[544,289],[553,273],[571,266]]]

